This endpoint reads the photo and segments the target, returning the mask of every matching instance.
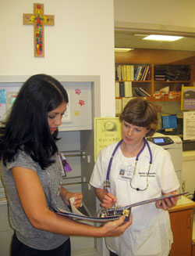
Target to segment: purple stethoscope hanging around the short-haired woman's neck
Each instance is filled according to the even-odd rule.
[[[111,166],[112,166],[112,160],[113,160],[113,157],[115,156],[115,153],[116,151],[119,149],[119,146],[121,145],[123,139],[121,139],[118,144],[115,146],[115,150],[112,152],[112,156],[110,158],[110,161],[109,161],[109,164],[108,164],[108,171],[107,171],[107,175],[106,175],[106,181],[105,181],[105,186],[104,186],[104,189],[109,189],[110,186],[111,186],[111,183],[110,183],[110,171],[111,171]],[[132,185],[132,181],[133,181],[133,178],[135,177],[136,175],[136,171],[137,171],[137,162],[138,162],[138,159],[140,157],[140,154],[142,153],[142,151],[144,150],[145,146],[147,145],[147,149],[150,153],[150,162],[149,162],[149,168],[148,168],[148,171],[147,171],[147,186],[145,189],[140,189],[140,188],[135,188],[133,187]],[[140,150],[140,152],[137,154],[137,157],[136,157],[136,163],[135,163],[135,168],[134,168],[134,171],[133,171],[133,176],[132,178],[130,179],[130,186],[132,189],[136,189],[137,191],[144,191],[148,188],[148,176],[149,176],[149,173],[150,173],[150,170],[151,170],[151,164],[152,164],[152,154],[151,154],[151,147],[149,146],[149,143],[147,142],[147,139],[144,138],[144,146],[142,147],[142,149]]]

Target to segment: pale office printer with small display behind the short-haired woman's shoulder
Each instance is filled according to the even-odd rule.
[[[168,150],[172,157],[172,163],[176,170],[176,175],[179,179],[179,193],[182,189],[182,166],[183,166],[183,142],[177,135],[164,135],[161,133],[154,133],[152,137],[147,138],[148,141],[162,146],[165,150]]]

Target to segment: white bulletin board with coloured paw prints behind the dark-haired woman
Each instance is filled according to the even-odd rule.
[[[0,85],[0,121],[9,114],[23,83],[1,83]],[[92,82],[62,82],[69,96],[69,103],[62,125],[62,131],[92,129]]]

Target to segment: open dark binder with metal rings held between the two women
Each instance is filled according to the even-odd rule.
[[[76,209],[76,207],[74,207],[74,205],[73,205],[74,197],[69,199],[72,212],[65,211],[60,208],[55,208],[54,210],[55,210],[55,213],[58,215],[62,215],[62,216],[68,217],[68,218],[73,218],[75,220],[85,220],[87,222],[110,222],[115,219],[118,219],[121,215],[125,215],[126,220],[127,220],[127,219],[129,219],[132,207],[140,206],[142,204],[150,204],[150,203],[153,203],[153,202],[156,202],[159,200],[163,200],[165,198],[183,196],[187,193],[188,192],[178,193],[176,195],[171,194],[171,195],[168,195],[165,197],[156,197],[156,198],[140,201],[135,204],[130,204],[130,205],[126,205],[126,206],[117,206],[117,207],[112,207],[112,208],[108,208],[108,209],[101,209],[97,212],[97,217],[83,215],[80,211],[78,211]]]

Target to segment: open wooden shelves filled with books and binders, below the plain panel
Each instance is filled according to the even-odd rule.
[[[115,63],[116,95],[118,90],[119,97],[131,96],[126,93],[129,85],[132,96],[150,97],[151,101],[180,101],[182,86],[193,84],[190,70],[190,65]]]

